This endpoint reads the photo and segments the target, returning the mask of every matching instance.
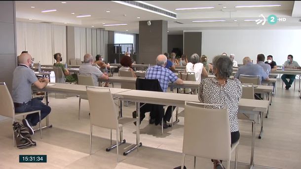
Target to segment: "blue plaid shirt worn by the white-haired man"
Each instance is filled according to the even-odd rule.
[[[176,82],[178,77],[169,69],[162,66],[152,66],[147,70],[145,79],[157,79],[163,92],[167,91],[169,82]]]

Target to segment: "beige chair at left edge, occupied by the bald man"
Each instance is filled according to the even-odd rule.
[[[0,99],[0,115],[5,116],[8,118],[12,118],[12,124],[15,122],[16,117],[26,116],[29,114],[38,113],[39,116],[39,130],[40,130],[40,137],[42,139],[42,127],[41,127],[41,112],[40,110],[32,111],[32,112],[25,112],[25,113],[15,113],[15,107],[14,103],[12,101],[11,95],[8,91],[8,88],[5,83],[0,83],[0,93],[1,93],[1,99]],[[16,146],[15,142],[15,133],[13,132],[13,142],[14,147]]]

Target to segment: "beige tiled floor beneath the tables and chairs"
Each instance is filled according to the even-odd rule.
[[[294,91],[293,87],[290,90],[282,90],[280,87],[273,97],[269,117],[264,119],[263,138],[256,139],[254,169],[299,169],[301,165],[301,99],[299,92]],[[127,156],[123,156],[122,152],[136,142],[136,132],[134,125],[124,127],[124,139],[127,143],[120,146],[120,162],[116,163],[116,150],[105,151],[110,145],[108,129],[94,127],[93,154],[89,156],[88,102],[82,100],[78,120],[78,98],[56,97],[55,94],[49,97],[52,108],[50,122],[53,127],[43,130],[43,139],[39,138],[38,133],[33,136],[37,141],[36,147],[24,150],[13,147],[11,121],[0,122],[0,169],[172,169],[181,165],[183,117],[180,117],[180,123],[172,129],[165,129],[163,136],[160,126],[148,125],[148,121],[144,120],[140,131],[143,146],[138,152]],[[131,117],[134,108],[133,103],[123,107],[123,115]],[[259,128],[258,126],[257,134]],[[247,169],[251,151],[251,123],[240,121],[240,133],[238,169]],[[20,154],[46,154],[47,163],[19,163]],[[186,166],[192,168],[192,157],[187,158]],[[213,165],[208,159],[198,158],[196,166],[198,169],[212,169]]]

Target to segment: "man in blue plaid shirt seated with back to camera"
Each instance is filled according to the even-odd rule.
[[[166,92],[168,88],[168,83],[183,84],[183,81],[179,79],[172,71],[164,68],[166,66],[167,57],[163,54],[160,54],[156,58],[156,65],[152,66],[146,72],[145,79],[157,79],[160,83],[160,86],[163,92]],[[170,121],[172,108],[175,109],[175,106],[168,106],[166,113],[163,117],[163,128],[167,128],[167,121]],[[145,113],[147,110],[140,109],[140,123],[145,118]],[[136,118],[136,111],[133,112],[133,118]],[[152,117],[153,118],[153,117]]]

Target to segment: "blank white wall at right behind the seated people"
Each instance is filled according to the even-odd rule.
[[[203,30],[202,54],[209,62],[223,52],[234,53],[238,64],[245,56],[256,63],[257,54],[263,53],[272,55],[277,65],[292,54],[301,65],[301,30]]]

